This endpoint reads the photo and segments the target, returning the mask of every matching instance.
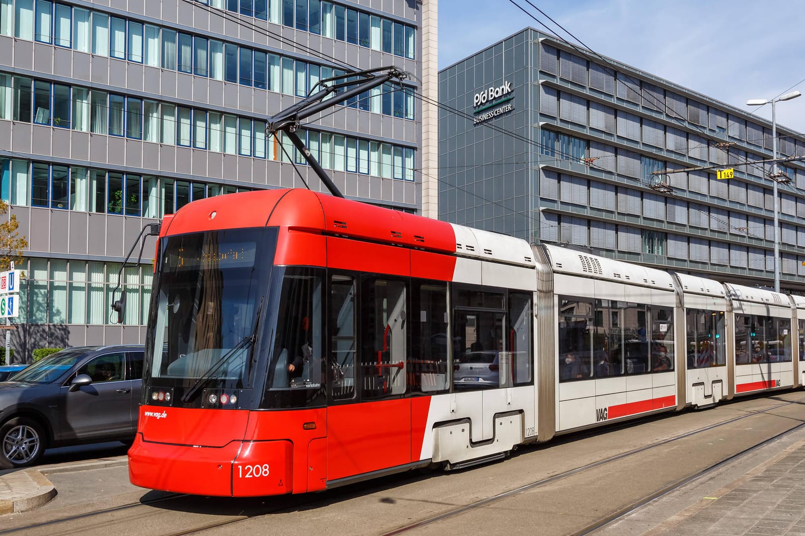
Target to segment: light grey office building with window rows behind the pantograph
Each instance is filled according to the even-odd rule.
[[[436,162],[436,139],[415,97],[436,92],[435,20],[436,2],[403,0],[0,0],[0,195],[29,243],[18,357],[142,342],[153,239],[124,272],[124,327],[109,306],[145,224],[214,195],[322,190],[290,140],[265,131],[319,80],[411,74],[300,133],[347,197],[419,211],[415,170]]]

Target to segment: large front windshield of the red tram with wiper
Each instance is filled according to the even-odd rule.
[[[276,235],[262,227],[167,238],[148,322],[148,382],[176,387],[191,406],[201,388],[252,387]]]

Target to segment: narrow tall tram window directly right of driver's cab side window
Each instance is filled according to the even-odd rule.
[[[330,395],[355,397],[355,280],[332,276],[330,281]]]

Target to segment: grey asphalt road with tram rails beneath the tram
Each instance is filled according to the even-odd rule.
[[[799,403],[780,406],[786,401]],[[237,536],[269,531],[283,536],[392,532],[441,536],[504,531],[573,534],[720,460],[794,430],[805,422],[803,403],[803,391],[741,400],[708,411],[687,411],[597,435],[570,436],[522,448],[509,460],[477,468],[429,475],[411,473],[303,496],[173,497],[130,485],[125,465],[67,473],[58,468],[48,473],[45,468],[43,473],[59,494],[41,509],[0,517],[0,534],[140,536],[199,530],[201,534]],[[743,418],[534,485],[737,417]],[[805,429],[783,436],[751,456],[767,457],[775,448],[803,439]],[[114,452],[114,448],[104,452]],[[740,463],[752,465],[753,458],[747,456]],[[718,474],[708,474],[687,486],[696,489],[690,497],[676,493],[674,501],[667,497],[654,501],[642,510],[639,522],[621,522],[620,528],[628,529],[630,534],[642,534],[652,523],[663,522],[690,501],[700,500],[703,485],[720,485],[719,478],[730,478],[733,473],[725,466]],[[511,493],[518,489],[521,490]],[[505,497],[495,498],[507,492]],[[488,502],[477,505],[485,500]],[[663,507],[657,508],[660,503]],[[438,519],[428,522],[432,518]],[[417,522],[424,524],[407,528]],[[621,533],[612,527],[602,532]]]

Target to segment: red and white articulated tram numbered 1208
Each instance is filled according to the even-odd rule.
[[[190,203],[155,270],[151,489],[305,493],[803,381],[805,298],[308,190]]]

